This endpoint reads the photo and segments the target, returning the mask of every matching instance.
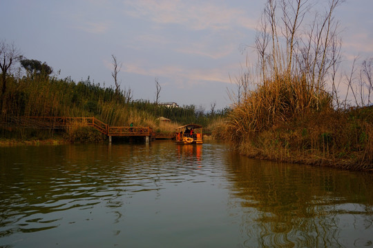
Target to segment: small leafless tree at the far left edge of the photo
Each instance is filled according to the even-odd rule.
[[[0,68],[1,79],[3,81],[1,87],[1,99],[6,92],[6,76],[11,66],[19,60],[21,52],[15,47],[14,43],[8,44],[6,41],[0,41]]]

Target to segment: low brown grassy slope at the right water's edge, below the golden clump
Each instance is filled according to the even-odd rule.
[[[355,117],[324,112],[296,118],[245,136],[238,149],[255,158],[372,170],[372,125]]]

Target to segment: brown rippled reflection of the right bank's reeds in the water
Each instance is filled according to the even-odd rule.
[[[342,237],[341,225],[347,225],[342,216],[360,222],[351,238],[366,231],[363,223],[372,223],[372,175],[234,154],[227,156],[227,164],[233,196],[247,209],[241,225],[245,247],[340,247],[348,240]],[[364,206],[359,217],[345,203]]]

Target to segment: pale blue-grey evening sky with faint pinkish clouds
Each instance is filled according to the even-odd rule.
[[[265,0],[0,0],[0,40],[54,74],[113,87],[133,99],[195,105],[231,104],[231,79],[255,63],[256,28]],[[314,1],[316,4],[325,0]],[[347,0],[336,11],[343,60],[373,56],[373,1]],[[245,52],[242,48],[245,47]]]

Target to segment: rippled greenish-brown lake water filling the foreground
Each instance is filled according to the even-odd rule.
[[[373,247],[373,174],[224,144],[0,148],[0,247]]]

